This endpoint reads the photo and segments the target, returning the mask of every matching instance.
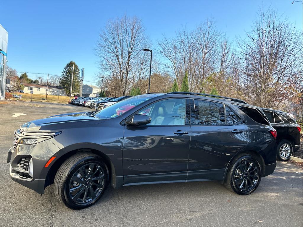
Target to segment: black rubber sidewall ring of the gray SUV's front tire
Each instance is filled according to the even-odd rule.
[[[69,182],[70,179],[72,178],[72,176],[74,175],[74,173],[83,165],[86,165],[88,163],[98,163],[98,165],[100,165],[104,171],[104,175],[105,175],[105,182],[104,182],[104,186],[102,188],[101,193],[97,196],[97,198],[94,201],[90,201],[87,202],[83,205],[78,205],[75,202],[73,202],[71,200],[71,198],[69,197],[69,192],[68,192],[68,188],[69,188]],[[89,157],[85,157],[82,160],[80,160],[79,162],[77,162],[72,169],[70,170],[70,172],[68,173],[67,178],[65,179],[64,182],[64,197],[65,197],[65,201],[66,201],[66,206],[68,206],[69,208],[72,209],[83,209],[89,206],[92,206],[95,202],[97,202],[103,195],[103,193],[105,192],[105,189],[107,187],[108,184],[108,169],[106,167],[106,165],[104,164],[104,162],[102,161],[101,158],[96,158],[96,156],[89,156]]]

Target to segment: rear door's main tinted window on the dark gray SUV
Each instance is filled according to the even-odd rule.
[[[222,125],[225,124],[225,113],[222,103],[194,99],[195,125]]]

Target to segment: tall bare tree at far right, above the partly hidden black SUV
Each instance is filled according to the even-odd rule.
[[[278,108],[302,83],[302,31],[282,20],[274,9],[260,9],[246,39],[238,40],[245,98],[260,107]]]

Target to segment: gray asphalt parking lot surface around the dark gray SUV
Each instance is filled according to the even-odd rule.
[[[278,162],[275,172],[248,196],[215,181],[108,187],[94,206],[78,211],[58,202],[52,185],[41,196],[10,179],[6,160],[14,130],[30,120],[89,110],[51,103],[0,104],[0,226],[302,226],[302,169],[288,162]],[[26,115],[12,117],[16,113]]]

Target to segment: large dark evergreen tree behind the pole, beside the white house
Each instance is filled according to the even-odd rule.
[[[60,85],[64,88],[66,94],[69,94],[71,90],[73,64],[75,64],[75,67],[72,93],[77,93],[80,90],[80,69],[74,61],[70,61],[65,65],[64,70],[62,71],[62,76],[60,78]]]

